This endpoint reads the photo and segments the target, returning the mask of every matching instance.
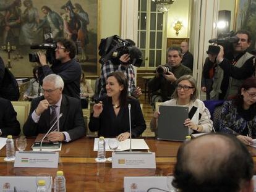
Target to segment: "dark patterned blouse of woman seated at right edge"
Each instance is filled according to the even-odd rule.
[[[250,109],[242,113],[250,115]],[[225,101],[220,114],[220,132],[233,135],[256,136],[256,115],[253,118],[244,118],[237,111],[232,101]]]

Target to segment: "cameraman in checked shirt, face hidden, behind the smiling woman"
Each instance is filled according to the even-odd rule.
[[[131,52],[132,54],[138,54],[139,55],[139,48],[135,47],[135,43],[132,40],[126,39],[124,40],[126,44],[129,45],[129,47],[131,48],[131,50],[133,50],[134,52]],[[125,47],[125,46],[124,46]],[[136,49],[135,49],[136,48]],[[128,94],[130,96],[134,96],[135,98],[139,98],[139,96],[142,94],[142,90],[141,88],[138,86],[135,86],[135,73],[134,73],[134,67],[132,65],[131,60],[135,60],[131,59],[130,54],[126,53],[126,54],[122,54],[119,57],[119,60],[116,59],[101,59],[101,76],[100,76],[100,81],[101,81],[101,88],[100,88],[100,94],[99,94],[99,98],[101,98],[102,96],[105,96],[106,94],[106,79],[108,77],[109,74],[113,73],[113,72],[122,72],[124,73],[124,75],[126,75],[126,78],[128,80]]]

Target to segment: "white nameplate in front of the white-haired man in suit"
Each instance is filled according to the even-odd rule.
[[[16,151],[14,167],[58,168],[59,152]]]

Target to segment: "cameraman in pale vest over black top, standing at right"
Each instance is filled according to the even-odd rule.
[[[233,51],[224,55],[223,46],[216,58],[216,69],[213,77],[211,99],[229,99],[237,94],[237,90],[246,78],[254,74],[254,56],[247,52],[251,43],[251,35],[247,30],[235,33],[239,41],[233,43]],[[225,50],[226,52],[229,50]]]

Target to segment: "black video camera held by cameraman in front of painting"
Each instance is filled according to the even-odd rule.
[[[49,64],[54,64],[56,61],[55,57],[55,49],[57,47],[56,42],[53,40],[53,35],[51,33],[47,33],[44,35],[45,43],[43,44],[33,44],[30,46],[30,49],[45,49],[46,50],[46,60]],[[40,62],[39,57],[36,52],[32,52],[28,54],[30,62]]]

